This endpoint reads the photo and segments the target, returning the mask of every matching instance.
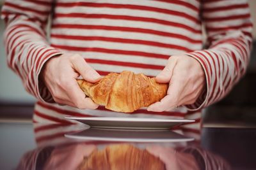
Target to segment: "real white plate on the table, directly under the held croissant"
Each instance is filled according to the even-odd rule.
[[[77,120],[90,127],[111,129],[170,129],[195,120],[160,119],[160,118],[127,118],[127,117],[66,117]]]

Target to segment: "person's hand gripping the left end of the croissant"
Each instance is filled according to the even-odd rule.
[[[81,55],[72,53],[52,57],[42,71],[42,79],[56,103],[79,109],[96,109],[99,105],[85,97],[76,81],[80,75],[92,83],[100,80],[99,73]]]

